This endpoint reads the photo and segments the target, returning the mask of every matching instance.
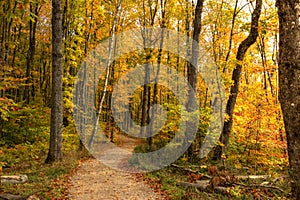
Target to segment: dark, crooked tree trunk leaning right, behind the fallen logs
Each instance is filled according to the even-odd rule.
[[[236,55],[237,64],[235,66],[235,69],[232,73],[232,80],[234,84],[230,88],[230,96],[226,104],[226,114],[229,117],[227,121],[224,122],[222,134],[220,137],[220,142],[224,144],[224,146],[216,146],[214,151],[214,160],[220,160],[223,153],[225,153],[228,142],[229,142],[229,136],[232,129],[232,123],[233,123],[233,111],[234,106],[236,103],[236,98],[239,92],[239,82],[240,82],[240,76],[242,72],[242,61],[244,60],[245,54],[247,50],[251,47],[252,44],[255,43],[257,37],[258,37],[258,21],[261,13],[262,8],[262,0],[256,0],[256,6],[252,13],[252,19],[251,19],[251,30],[248,37],[242,41],[242,43],[239,45],[238,52]]]

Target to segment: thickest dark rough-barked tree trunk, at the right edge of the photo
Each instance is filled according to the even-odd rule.
[[[293,197],[300,199],[300,1],[277,0],[279,100],[288,144]]]

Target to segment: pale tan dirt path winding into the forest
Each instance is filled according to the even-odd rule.
[[[120,147],[131,152],[141,143],[122,135],[118,139]],[[147,184],[138,181],[135,174],[113,170],[96,159],[80,163],[77,172],[71,177],[71,185],[69,197],[74,200],[165,199]]]

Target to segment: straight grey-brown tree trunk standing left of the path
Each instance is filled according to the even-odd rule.
[[[52,0],[52,99],[50,147],[46,163],[62,158],[62,10],[61,0]]]

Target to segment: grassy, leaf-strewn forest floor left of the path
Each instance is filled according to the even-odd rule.
[[[63,159],[53,164],[45,164],[49,147],[49,128],[39,126],[31,128],[35,139],[30,142],[0,145],[1,175],[27,175],[23,184],[1,184],[1,192],[14,195],[36,195],[40,199],[68,199],[68,176],[81,159],[88,157],[86,152],[78,152],[79,138],[73,127],[63,130]],[[13,134],[17,134],[12,132]]]

